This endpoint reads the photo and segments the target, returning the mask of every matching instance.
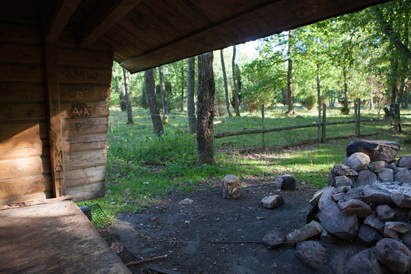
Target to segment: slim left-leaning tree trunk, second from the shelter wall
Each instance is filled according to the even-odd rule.
[[[164,129],[161,122],[160,112],[158,110],[157,103],[155,103],[155,85],[153,69],[145,71],[145,86],[147,94],[147,103],[149,103],[149,110],[151,115],[151,121],[153,122],[154,133],[158,136],[161,136],[164,133]]]

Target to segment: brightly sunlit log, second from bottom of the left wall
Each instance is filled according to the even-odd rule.
[[[0,161],[0,179],[12,179],[50,172],[50,158],[29,157]]]

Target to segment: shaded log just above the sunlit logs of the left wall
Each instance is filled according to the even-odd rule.
[[[0,103],[0,121],[29,121],[47,118],[44,103],[19,104]]]

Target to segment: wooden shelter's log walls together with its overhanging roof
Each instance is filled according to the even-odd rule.
[[[136,73],[379,2],[1,1],[0,206],[103,197],[113,60]]]

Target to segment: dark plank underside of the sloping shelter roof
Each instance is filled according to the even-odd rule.
[[[33,10],[47,10],[46,40],[111,49],[114,60],[131,73],[384,2],[60,0],[45,1],[42,7],[38,0],[5,1],[2,12],[10,18],[14,14],[27,21],[35,16]]]

